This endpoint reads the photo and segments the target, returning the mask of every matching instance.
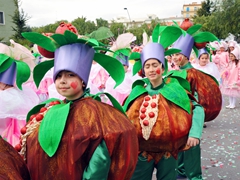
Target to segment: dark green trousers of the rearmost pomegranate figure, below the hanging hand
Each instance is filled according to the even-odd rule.
[[[200,145],[178,154],[178,174],[189,180],[202,179]]]

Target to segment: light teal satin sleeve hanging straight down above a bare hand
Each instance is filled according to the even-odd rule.
[[[198,99],[197,93],[194,97]],[[202,136],[203,123],[205,118],[205,113],[203,107],[196,101],[192,100],[193,104],[193,115],[192,115],[192,126],[189,131],[189,137],[194,137],[200,139]]]

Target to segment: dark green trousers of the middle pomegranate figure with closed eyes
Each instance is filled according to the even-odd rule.
[[[157,180],[176,180],[177,160],[172,156],[167,159],[162,157],[155,164],[154,160],[148,162],[141,154],[138,156],[137,166],[131,180],[151,180],[154,168],[157,169]]]

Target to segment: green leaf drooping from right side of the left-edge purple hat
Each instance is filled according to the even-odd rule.
[[[26,82],[29,79],[31,70],[25,62],[15,61],[15,63],[17,66],[16,84],[17,87],[22,90],[22,83]]]

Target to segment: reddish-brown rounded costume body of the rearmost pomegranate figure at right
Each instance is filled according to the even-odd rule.
[[[198,103],[204,108],[205,122],[214,120],[222,108],[222,94],[218,84],[210,76],[194,68],[188,69],[187,74],[192,94],[198,93]]]

